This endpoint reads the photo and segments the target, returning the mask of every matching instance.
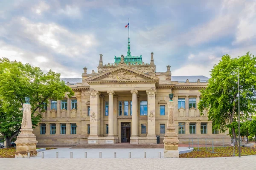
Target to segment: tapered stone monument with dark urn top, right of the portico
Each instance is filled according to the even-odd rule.
[[[173,94],[169,94],[170,101],[168,102],[168,122],[167,122],[167,130],[163,140],[164,143],[164,157],[165,158],[178,158],[178,136],[175,132],[175,123],[174,123],[174,115],[173,108],[174,104],[172,101]]]

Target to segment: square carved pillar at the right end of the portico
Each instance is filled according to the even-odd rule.
[[[156,94],[157,90],[151,88],[146,91],[148,94],[148,134],[147,134],[147,144],[156,144]]]

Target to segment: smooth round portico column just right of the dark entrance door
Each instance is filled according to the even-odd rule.
[[[132,90],[132,116],[131,116],[131,144],[138,144],[139,143],[139,115],[137,111],[137,90]]]

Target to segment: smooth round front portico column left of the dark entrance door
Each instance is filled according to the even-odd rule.
[[[108,90],[108,137],[114,136],[114,91]]]

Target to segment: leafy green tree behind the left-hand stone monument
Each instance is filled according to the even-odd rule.
[[[38,67],[0,59],[0,133],[9,147],[12,139],[20,132],[22,106],[25,96],[30,98],[33,127],[41,119],[38,110],[44,111],[48,99],[63,99],[74,95],[72,89],[60,81],[60,74],[49,70],[44,73]]]

